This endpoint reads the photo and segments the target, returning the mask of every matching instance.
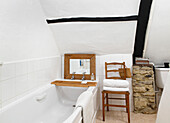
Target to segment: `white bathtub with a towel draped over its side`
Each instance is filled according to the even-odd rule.
[[[96,113],[97,88],[88,89],[93,91]],[[79,95],[86,90],[87,88],[46,85],[3,108],[0,123],[62,123],[67,118],[75,123],[81,122],[81,108],[74,110],[74,105]]]

